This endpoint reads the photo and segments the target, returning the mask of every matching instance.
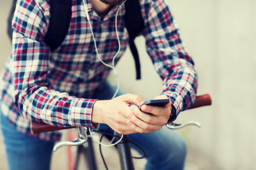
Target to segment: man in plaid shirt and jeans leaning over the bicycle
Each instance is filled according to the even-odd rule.
[[[50,19],[49,0],[19,0],[13,19],[12,54],[1,74],[1,127],[9,169],[49,169],[60,132],[32,135],[29,122],[56,126],[106,124],[146,152],[145,169],[183,169],[183,138],[164,125],[196,98],[193,60],[164,0],[142,0],[146,50],[169,98],[163,108],[139,106],[142,98],[122,94],[107,76],[123,55],[129,37],[122,0],[73,0],[68,33],[50,51],[43,41]],[[117,28],[115,26],[117,25]],[[112,64],[114,63],[114,64]],[[112,98],[112,99],[111,99]],[[151,113],[151,114],[148,114]]]

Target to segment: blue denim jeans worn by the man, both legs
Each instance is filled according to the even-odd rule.
[[[105,88],[97,96],[99,99],[109,99],[114,94],[114,87],[108,83],[105,83],[104,86]],[[118,95],[122,94],[124,92],[119,91]],[[107,128],[107,125],[100,127],[102,130]],[[2,113],[1,129],[10,170],[50,169],[54,142],[38,140],[18,132]],[[136,133],[128,136],[132,142],[140,145],[146,152],[148,161],[145,169],[183,169],[186,158],[186,143],[176,130],[169,130],[164,126],[156,132]],[[134,147],[134,149],[137,148]],[[138,152],[141,150],[138,149]]]

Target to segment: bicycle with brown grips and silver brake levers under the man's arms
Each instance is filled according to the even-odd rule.
[[[211,105],[211,98],[209,94],[204,94],[201,96],[197,96],[196,102],[191,106],[191,108],[198,108],[201,106],[210,106]],[[169,129],[180,129],[183,127],[186,127],[187,125],[196,125],[198,127],[201,127],[200,123],[196,121],[188,121],[187,123],[178,124],[178,123],[169,123],[166,125]],[[75,127],[70,127],[75,128]],[[55,127],[51,125],[47,125],[45,123],[38,123],[35,121],[31,121],[31,132],[38,133],[38,132],[50,132],[54,130],[64,130],[69,128],[60,128]],[[104,133],[104,132],[100,132]],[[78,128],[78,140],[75,140],[73,142],[59,142],[55,145],[53,148],[53,151],[56,151],[59,147],[68,146],[68,168],[71,170],[78,169],[78,162],[80,158],[80,154],[85,154],[85,162],[87,162],[88,169],[97,170],[97,164],[96,164],[96,158],[95,158],[95,150],[93,147],[93,140],[92,140],[92,130],[90,128],[86,127],[79,127]],[[104,134],[106,135],[106,134]],[[102,137],[104,136],[102,135]],[[109,135],[109,134],[107,134]],[[102,137],[100,137],[102,140]],[[129,145],[129,137],[127,135],[124,135],[122,138],[119,138],[119,135],[114,135],[115,139],[112,140],[112,146],[116,146],[118,153],[119,153],[119,160],[122,170],[134,170],[134,164],[132,161],[132,154],[131,154],[131,147]],[[73,138],[73,133],[69,133],[68,135],[69,139]],[[84,145],[84,144],[87,145]],[[135,144],[136,145],[136,144]],[[75,157],[72,157],[72,147],[71,146],[77,146]],[[137,146],[139,147],[139,146]],[[101,145],[100,145],[101,148]],[[100,150],[101,156],[102,152]],[[144,156],[139,157],[144,158]],[[105,164],[105,167],[107,169],[107,164],[105,163],[104,157],[102,156],[103,163]]]

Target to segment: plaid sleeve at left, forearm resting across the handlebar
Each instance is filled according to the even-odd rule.
[[[14,102],[28,120],[62,127],[92,126],[95,100],[76,98],[50,88],[50,49],[43,42],[49,5],[18,1],[13,19]]]

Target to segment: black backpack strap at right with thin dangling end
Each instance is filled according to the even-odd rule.
[[[134,39],[144,29],[144,19],[142,18],[142,8],[139,4],[139,0],[127,0],[125,2],[124,21],[129,34],[129,47],[134,57],[137,72],[136,79],[141,79],[139,53],[134,43]]]

